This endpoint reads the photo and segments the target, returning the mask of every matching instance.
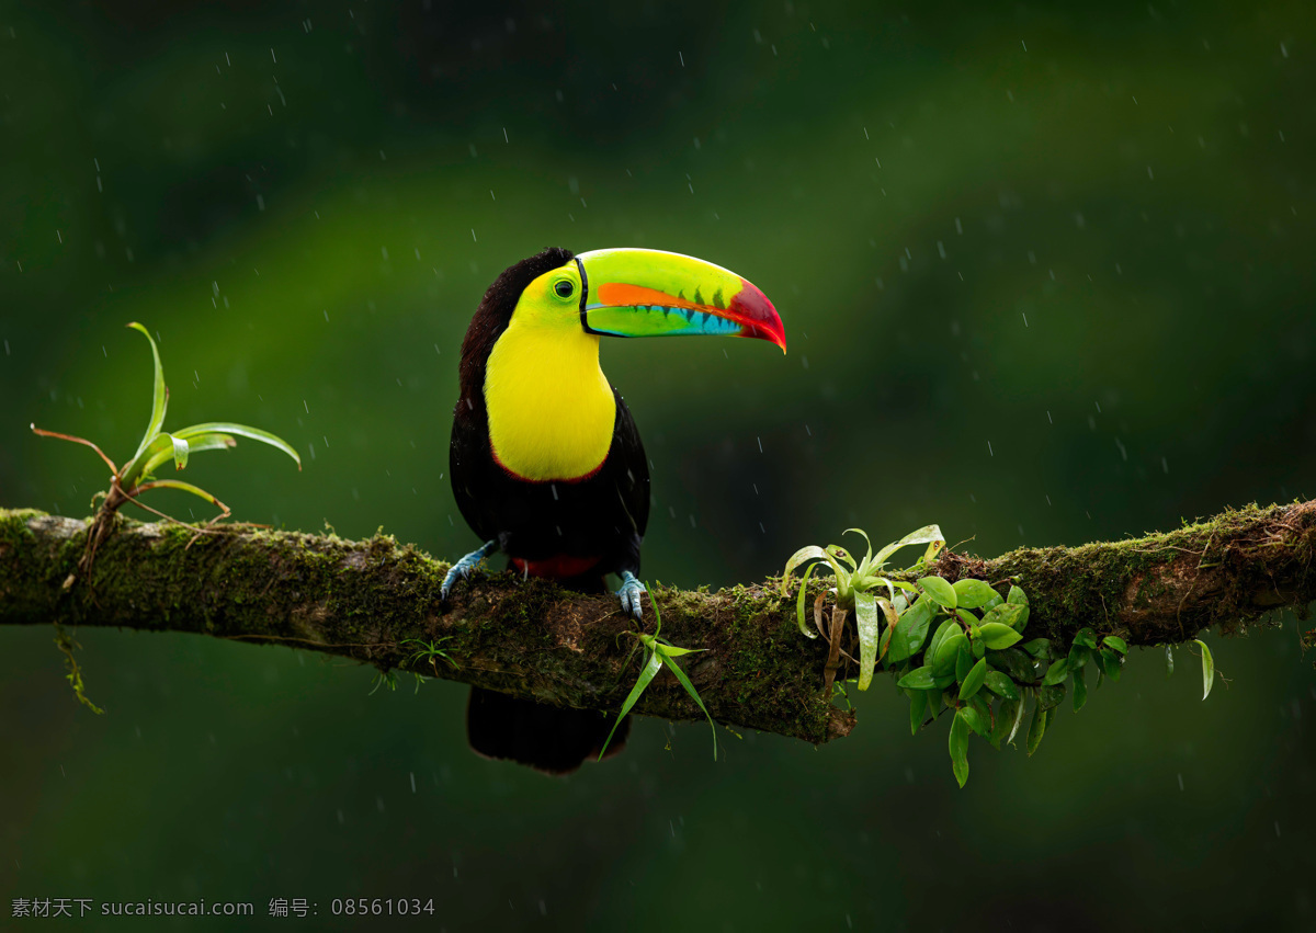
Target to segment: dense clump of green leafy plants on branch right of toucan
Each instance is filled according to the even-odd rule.
[[[862,534],[869,541],[861,529],[848,532]],[[913,567],[899,575],[883,572],[891,554],[916,543],[926,543],[928,549]],[[845,655],[858,666],[859,690],[869,688],[878,665],[884,665],[899,678],[896,686],[909,697],[909,729],[913,734],[934,721],[942,709],[953,709],[950,761],[955,780],[963,787],[969,780],[971,732],[999,750],[1001,741],[1013,742],[1025,708],[1032,701],[1033,719],[1026,737],[1028,754],[1032,755],[1055,708],[1065,699],[1066,680],[1073,682],[1074,711],[1078,712],[1087,703],[1084,671],[1088,665],[1096,671],[1098,686],[1104,678],[1119,680],[1128,643],[1115,633],[1099,636],[1091,628],[1080,629],[1067,651],[1059,650],[1061,646],[1049,638],[1020,643],[1029,605],[1023,588],[1012,582],[1008,595],[1001,596],[987,580],[969,576],[954,583],[930,574],[912,583],[900,579],[926,571],[944,546],[941,529],[928,525],[876,554],[870,542],[858,563],[838,545],[801,547],[786,563],[782,593],[787,593],[791,571],[796,567],[811,561],[825,561],[830,566],[834,584],[820,592],[813,603],[815,626],[829,642],[825,687],[832,687]],[[821,566],[809,563],[805,568],[796,603],[800,632],[809,638],[817,634],[805,622],[808,580]],[[836,605],[824,624],[822,607],[828,592],[836,595]],[[845,620],[850,612],[855,617],[853,640],[859,645],[858,661],[842,649]],[[879,634],[883,617],[887,626]],[[1207,699],[1215,680],[1215,661],[1204,642],[1195,643],[1202,647],[1202,699]],[[1166,657],[1173,671],[1173,657],[1169,651]]]

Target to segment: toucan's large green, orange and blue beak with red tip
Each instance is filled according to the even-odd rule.
[[[758,337],[786,353],[786,329],[772,303],[720,266],[661,250],[591,250],[575,259],[584,284],[580,324],[591,333]]]

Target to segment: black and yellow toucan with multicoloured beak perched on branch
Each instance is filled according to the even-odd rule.
[[[649,462],[599,367],[599,338],[676,334],[757,337],[786,351],[763,292],[687,255],[550,247],[497,276],[462,342],[449,451],[457,507],[484,543],[453,565],[442,599],[503,551],[511,570],[580,592],[605,592],[613,574],[622,612],[641,618]],[[596,711],[482,688],[467,708],[475,751],[547,774],[597,755],[608,726]],[[609,757],[624,741],[622,728]]]

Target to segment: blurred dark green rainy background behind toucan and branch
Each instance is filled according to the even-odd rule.
[[[237,518],[465,553],[459,341],[547,245],[709,259],[787,326],[786,358],[605,343],[649,579],[762,578],[855,524],[992,555],[1316,492],[1311,4],[476,7],[0,5],[0,503],[89,511],[104,467],[28,424],[125,457],[138,320],[170,424],[303,451],[190,466]],[[1134,651],[1033,759],[975,740],[963,791],[884,679],[825,747],[722,733],[715,763],[644,720],[550,780],[466,749],[455,684],[83,630],[96,717],[11,629],[0,926],[13,897],[347,929],[334,897],[418,896],[450,930],[1312,929],[1298,626],[1215,642],[1207,703],[1186,651],[1169,680]]]

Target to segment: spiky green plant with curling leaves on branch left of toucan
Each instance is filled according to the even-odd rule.
[[[179,490],[182,492],[199,496],[217,507],[220,509],[220,515],[216,516],[213,521],[226,518],[232,515],[228,505],[192,483],[184,483],[179,479],[157,479],[154,475],[155,471],[166,463],[172,462],[174,470],[180,471],[187,466],[188,458],[192,454],[203,450],[225,450],[236,446],[238,437],[246,437],[249,440],[261,441],[262,443],[278,447],[296,462],[299,470],[301,468],[301,458],[297,457],[297,451],[293,450],[287,441],[276,437],[275,434],[261,430],[259,428],[250,428],[232,421],[207,421],[204,424],[190,425],[179,430],[166,432],[164,412],[168,408],[168,387],[164,384],[164,368],[161,366],[159,347],[155,345],[155,340],[150,336],[150,332],[147,332],[141,324],[134,321],[128,326],[146,337],[151,345],[151,357],[155,363],[150,421],[146,425],[146,433],[142,434],[141,443],[137,445],[137,450],[128,459],[128,462],[122,467],[118,467],[114,465],[114,461],[109,459],[109,457],[107,457],[99,446],[83,437],[61,434],[32,425],[32,430],[42,437],[54,437],[62,441],[71,441],[74,443],[82,443],[91,447],[111,470],[109,490],[104,493],[97,493],[97,496],[104,496],[104,499],[101,499],[100,509],[88,529],[87,549],[78,565],[78,571],[83,575],[89,572],[91,565],[95,561],[96,549],[113,530],[114,516],[125,503],[133,503],[163,518],[178,521],[176,518],[172,518],[171,516],[158,512],[150,505],[145,505],[138,501],[138,496],[143,492],[150,490]],[[76,574],[70,574],[68,579],[64,580],[64,587],[72,586],[75,578]]]

